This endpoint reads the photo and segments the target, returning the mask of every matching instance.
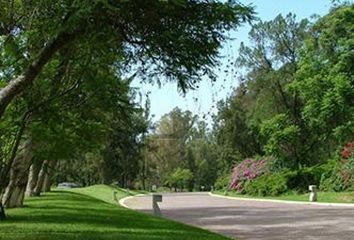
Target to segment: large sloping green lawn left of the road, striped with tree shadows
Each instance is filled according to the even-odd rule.
[[[218,234],[113,204],[114,188],[97,185],[54,190],[9,209],[0,222],[6,240],[228,239]],[[118,197],[126,196],[118,191]]]

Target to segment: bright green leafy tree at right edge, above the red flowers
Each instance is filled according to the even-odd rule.
[[[313,26],[302,51],[296,82],[302,115],[327,155],[354,137],[354,5],[334,8]]]

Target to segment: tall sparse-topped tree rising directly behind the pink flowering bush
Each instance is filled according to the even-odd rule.
[[[280,117],[277,115],[281,114],[291,123],[303,125],[298,93],[291,92],[287,86],[295,79],[308,29],[307,20],[297,22],[293,14],[279,15],[272,21],[255,24],[249,33],[251,45],[241,44],[236,65],[244,67],[247,73],[234,96],[219,103],[215,118],[218,144],[225,146],[221,149],[224,158],[229,159],[227,168],[239,159],[262,155],[272,147],[277,134],[274,131],[282,129],[268,127],[262,130],[265,121],[277,121]],[[299,142],[306,141],[306,134],[303,131],[298,135],[302,140],[289,142],[287,147],[291,149],[285,151],[293,152],[291,164],[305,157],[300,157],[298,151],[302,146]],[[269,147],[264,147],[267,144]],[[280,147],[281,143],[274,144]],[[273,150],[272,154],[275,154],[275,148]]]

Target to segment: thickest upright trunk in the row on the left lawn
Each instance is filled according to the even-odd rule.
[[[11,165],[10,181],[2,198],[5,207],[22,207],[32,157],[32,139],[27,138]]]

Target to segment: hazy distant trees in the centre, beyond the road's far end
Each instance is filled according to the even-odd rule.
[[[147,183],[189,190],[211,189],[216,178],[216,152],[206,124],[179,108],[164,115],[146,138]]]

